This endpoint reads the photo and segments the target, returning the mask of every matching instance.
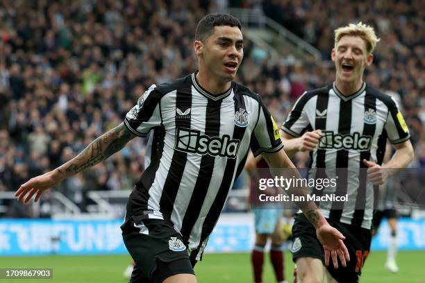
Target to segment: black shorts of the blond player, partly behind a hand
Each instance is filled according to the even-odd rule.
[[[349,250],[350,261],[343,267],[338,258],[338,269],[333,268],[330,259],[327,270],[338,282],[358,282],[361,269],[367,255],[369,255],[372,234],[370,230],[358,226],[340,223],[332,219],[326,219],[328,223],[338,229],[345,237],[345,246]],[[316,230],[307,220],[304,214],[296,214],[292,226],[292,260],[297,261],[300,257],[314,257],[322,260],[324,264],[324,249],[316,236]]]

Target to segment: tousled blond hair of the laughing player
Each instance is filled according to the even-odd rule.
[[[366,43],[366,50],[369,54],[374,51],[376,43],[380,40],[376,37],[375,30],[372,26],[367,26],[359,22],[357,24],[349,24],[348,26],[342,26],[335,29],[335,48],[344,35],[361,37]]]

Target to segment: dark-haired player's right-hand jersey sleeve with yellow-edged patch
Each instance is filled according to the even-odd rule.
[[[281,135],[269,110],[260,102],[258,123],[251,137],[251,150],[254,156],[260,153],[274,153],[283,148]]]

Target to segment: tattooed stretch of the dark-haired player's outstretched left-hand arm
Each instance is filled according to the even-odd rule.
[[[80,154],[68,162],[65,171],[78,173],[94,166],[121,150],[134,137],[135,135],[128,131],[124,123],[121,123],[92,141]]]

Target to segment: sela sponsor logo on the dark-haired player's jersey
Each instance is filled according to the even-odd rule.
[[[229,135],[208,137],[208,135],[201,135],[199,130],[177,128],[174,149],[185,153],[208,154],[233,159],[238,153],[239,145],[240,140],[231,139]]]

